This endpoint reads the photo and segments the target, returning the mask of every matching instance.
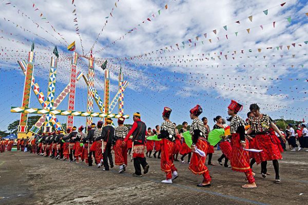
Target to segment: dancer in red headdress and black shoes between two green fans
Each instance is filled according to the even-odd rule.
[[[192,119],[192,124],[190,126],[189,133],[192,136],[191,151],[192,156],[189,163],[189,170],[194,174],[202,174],[203,181],[199,183],[197,187],[210,187],[210,175],[207,167],[205,166],[206,151],[207,151],[207,141],[205,139],[205,127],[203,122],[198,118],[202,113],[201,106],[197,105],[190,111],[190,119]],[[201,156],[195,152],[196,148],[203,151],[205,156]]]

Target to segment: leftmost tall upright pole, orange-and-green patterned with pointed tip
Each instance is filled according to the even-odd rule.
[[[22,107],[29,107],[30,104],[31,82],[33,77],[34,59],[35,59],[34,56],[35,54],[34,54],[34,40],[33,40],[31,51],[28,53]],[[20,118],[20,124],[18,126],[18,138],[26,136],[26,133],[28,131],[27,122],[28,122],[28,114],[22,113]]]

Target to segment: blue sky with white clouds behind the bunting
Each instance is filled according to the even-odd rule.
[[[5,0],[0,11],[0,130],[20,116],[10,113],[11,106],[22,105],[24,74],[16,61],[26,59],[33,39],[34,77],[45,95],[53,47],[60,53],[58,95],[69,82],[72,53],[66,47],[75,41],[80,56],[92,48],[101,98],[102,61],[109,62],[111,99],[122,66],[129,81],[125,114],[141,112],[149,127],[161,123],[164,106],[173,110],[177,124],[190,121],[189,109],[196,104],[213,125],[216,115],[227,116],[230,99],[244,105],[243,117],[258,103],[272,118],[308,119],[305,1]],[[87,73],[85,57],[79,58],[78,71]],[[40,108],[31,94],[30,107]],[[58,108],[67,104],[68,99]],[[81,79],[75,110],[86,107]],[[75,117],[75,124],[85,124],[85,118]]]

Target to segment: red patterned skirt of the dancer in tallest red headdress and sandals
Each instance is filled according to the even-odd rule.
[[[246,139],[246,145],[248,147],[249,142]],[[249,164],[249,154],[248,151],[243,150],[240,144],[240,135],[238,133],[232,134],[231,138],[232,146],[232,157],[231,157],[231,167],[233,171],[246,172],[251,169]]]

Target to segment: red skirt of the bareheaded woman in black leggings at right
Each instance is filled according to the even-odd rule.
[[[279,142],[278,142],[279,141]],[[256,135],[255,144],[257,149],[263,150],[259,153],[259,158],[256,159],[256,162],[259,164],[262,161],[271,161],[275,159],[282,159],[280,149],[280,140],[275,135],[275,133],[267,133],[262,135]],[[282,150],[283,151],[283,150]]]

